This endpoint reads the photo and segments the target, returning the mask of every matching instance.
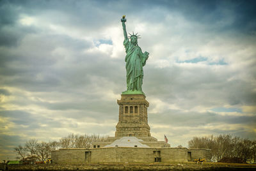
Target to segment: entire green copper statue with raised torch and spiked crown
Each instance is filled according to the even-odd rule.
[[[124,29],[124,47],[126,52],[125,68],[127,83],[127,91],[122,92],[122,94],[144,94],[142,91],[143,66],[145,66],[148,59],[148,52],[143,53],[141,48],[138,46],[138,33],[129,33],[129,38],[131,39],[129,41],[125,27],[125,15],[122,17],[121,22]]]

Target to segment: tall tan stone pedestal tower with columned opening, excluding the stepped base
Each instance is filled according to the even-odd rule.
[[[122,94],[115,137],[150,137],[148,101],[143,94]]]

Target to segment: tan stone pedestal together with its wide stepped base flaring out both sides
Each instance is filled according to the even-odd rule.
[[[139,138],[142,140],[141,144],[152,148],[170,147],[170,144],[157,141],[157,138],[150,135],[147,112],[149,103],[144,94],[121,94],[121,100],[117,100],[117,103],[119,119],[115,137],[108,137],[104,142],[93,142],[93,148],[106,147],[122,137]]]

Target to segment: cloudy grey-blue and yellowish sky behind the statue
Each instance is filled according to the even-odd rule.
[[[143,91],[158,140],[256,138],[253,1],[0,1],[0,160],[29,138],[115,135],[125,91],[120,19],[149,52]]]

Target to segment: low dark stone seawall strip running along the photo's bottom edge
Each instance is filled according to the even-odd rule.
[[[60,165],[9,165],[8,170],[255,170],[256,165],[234,163],[97,163]]]

